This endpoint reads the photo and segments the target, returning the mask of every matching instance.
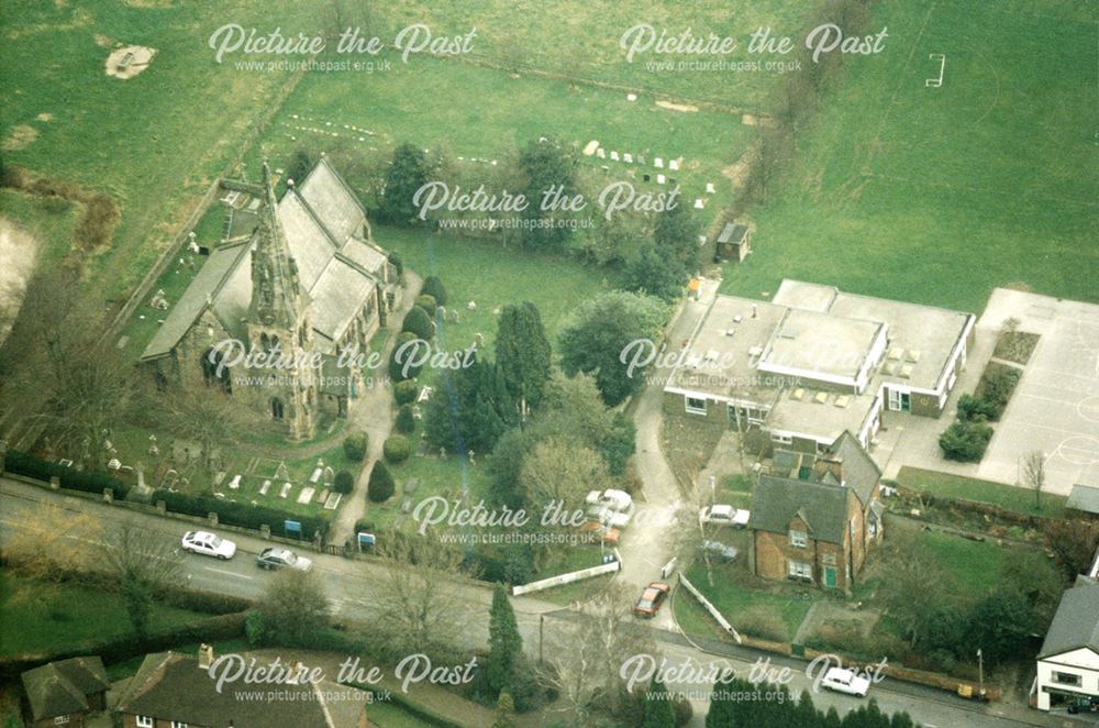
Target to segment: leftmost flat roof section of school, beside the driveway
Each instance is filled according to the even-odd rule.
[[[718,296],[667,386],[769,402],[779,386],[774,377],[761,375],[755,359],[786,311],[766,301]]]

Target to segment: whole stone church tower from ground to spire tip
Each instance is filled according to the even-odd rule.
[[[257,367],[249,374],[256,384],[255,406],[268,418],[286,424],[296,440],[312,437],[315,427],[317,386],[320,372],[309,367],[313,328],[309,295],[301,289],[298,265],[290,255],[278,218],[270,168],[264,159],[264,201],[252,249],[252,301],[248,342],[253,351],[270,354],[279,364]],[[281,357],[281,359],[279,359]],[[263,377],[260,379],[259,377]]]

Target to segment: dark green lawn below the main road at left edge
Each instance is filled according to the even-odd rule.
[[[130,631],[122,598],[70,584],[42,584],[0,573],[0,654],[73,647],[80,640]],[[156,605],[151,628],[165,629],[209,617]]]

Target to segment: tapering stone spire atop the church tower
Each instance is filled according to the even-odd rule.
[[[259,209],[259,225],[252,251],[252,305],[248,318],[268,327],[293,331],[306,302],[298,282],[298,265],[290,256],[286,234],[278,219],[278,202],[267,159],[264,159],[263,188],[264,201]]]

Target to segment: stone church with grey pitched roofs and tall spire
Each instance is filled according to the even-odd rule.
[[[230,397],[290,440],[311,438],[362,390],[341,354],[367,351],[386,324],[396,269],[323,156],[281,199],[266,162],[259,185],[223,186],[230,213],[254,224],[210,252],[141,363],[162,388]]]

